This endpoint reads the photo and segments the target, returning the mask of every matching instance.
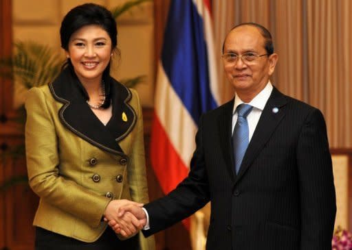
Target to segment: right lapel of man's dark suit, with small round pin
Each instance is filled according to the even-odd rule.
[[[272,136],[272,133],[275,131],[278,123],[280,123],[281,119],[285,116],[287,110],[284,106],[286,103],[287,100],[285,99],[285,95],[274,88],[270,98],[267,100],[258,125],[256,125],[256,129],[252,139],[250,140],[248,149],[245,151],[241,168],[239,170],[239,174],[236,177],[235,183],[241,179],[245,171],[247,171],[253,160],[256,158],[256,155],[259,155],[259,151],[263,149],[265,143],[267,140],[269,140],[270,136]],[[275,112],[276,108],[278,112]]]

